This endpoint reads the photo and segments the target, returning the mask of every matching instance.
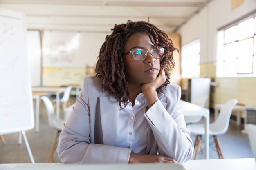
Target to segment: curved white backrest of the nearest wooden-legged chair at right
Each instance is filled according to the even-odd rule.
[[[211,131],[218,132],[219,134],[224,134],[225,132],[227,132],[230,116],[237,102],[238,101],[236,99],[231,99],[223,105],[216,121],[210,124]]]

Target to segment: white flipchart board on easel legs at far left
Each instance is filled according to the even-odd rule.
[[[25,15],[0,9],[0,135],[34,128]]]

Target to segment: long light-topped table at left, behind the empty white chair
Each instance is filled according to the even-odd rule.
[[[60,117],[60,93],[64,92],[67,87],[32,87],[32,92],[52,92],[56,93],[56,115]]]

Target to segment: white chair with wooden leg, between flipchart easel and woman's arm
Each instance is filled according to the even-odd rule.
[[[49,160],[48,160],[48,163],[52,163],[52,157],[53,157],[53,154],[54,154],[54,150],[57,147],[56,144],[57,144],[57,141],[58,141],[58,137],[60,135],[60,132],[63,128],[63,124],[64,124],[65,121],[61,120],[61,119],[57,119],[57,117],[54,113],[54,107],[52,105],[52,102],[48,97],[42,96],[40,98],[45,103],[45,107],[46,107],[46,110],[47,110],[47,116],[48,116],[48,123],[49,123],[50,127],[57,130],[57,134],[55,136],[54,143],[52,145],[52,150],[50,152],[50,156],[49,156]]]

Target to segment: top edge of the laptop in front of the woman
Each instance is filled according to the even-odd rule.
[[[174,163],[140,163],[140,164],[45,164],[20,165],[14,170],[183,170],[182,165]]]

